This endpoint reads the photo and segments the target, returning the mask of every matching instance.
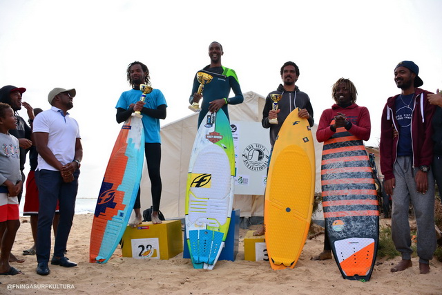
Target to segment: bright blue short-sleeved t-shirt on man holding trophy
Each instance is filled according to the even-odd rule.
[[[131,104],[136,104],[142,95],[142,91],[131,89],[130,91],[124,91],[122,95],[119,97],[117,106],[115,108],[124,108],[128,109]],[[146,99],[144,100],[146,104],[144,104],[145,108],[153,108],[157,109],[158,106],[166,104],[166,98],[159,89],[153,89],[151,93],[146,95]],[[144,142],[149,144],[152,143],[161,143],[160,138],[160,119],[142,114],[142,122],[144,126]]]

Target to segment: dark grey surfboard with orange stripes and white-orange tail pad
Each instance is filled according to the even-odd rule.
[[[369,280],[379,236],[376,187],[363,141],[344,128],[324,142],[321,185],[325,230],[341,274]]]

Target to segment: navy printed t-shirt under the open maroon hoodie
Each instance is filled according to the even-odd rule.
[[[398,155],[413,155],[412,148],[412,113],[414,109],[414,93],[396,97],[396,121],[398,122]]]

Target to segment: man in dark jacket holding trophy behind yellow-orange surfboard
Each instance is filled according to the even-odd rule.
[[[298,113],[299,117],[305,118],[309,121],[310,126],[313,126],[313,107],[310,103],[310,98],[307,93],[299,90],[298,86],[295,85],[299,77],[299,68],[293,61],[287,61],[282,65],[280,70],[282,83],[279,84],[276,91],[272,91],[267,95],[265,99],[265,106],[262,110],[262,127],[270,129],[270,144],[273,150],[273,145],[275,144],[276,137],[284,123],[285,119],[294,111],[295,108],[300,108]],[[278,109],[273,110],[273,101],[271,99],[272,94],[282,95],[280,101],[278,102]],[[277,119],[277,124],[271,124],[272,119]],[[269,158],[270,161],[270,158]],[[253,236],[262,236],[265,234],[265,226],[256,229],[253,232]]]

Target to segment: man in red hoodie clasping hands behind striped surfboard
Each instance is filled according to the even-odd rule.
[[[316,139],[318,142],[325,142],[334,133],[336,129],[344,127],[352,135],[361,140],[369,140],[372,125],[368,108],[356,104],[356,87],[349,79],[340,78],[332,86],[332,97],[336,104],[332,108],[323,111],[320,116]],[[334,121],[334,124],[331,124]],[[329,242],[327,231],[324,237],[324,250],[311,260],[332,259],[332,247]]]

